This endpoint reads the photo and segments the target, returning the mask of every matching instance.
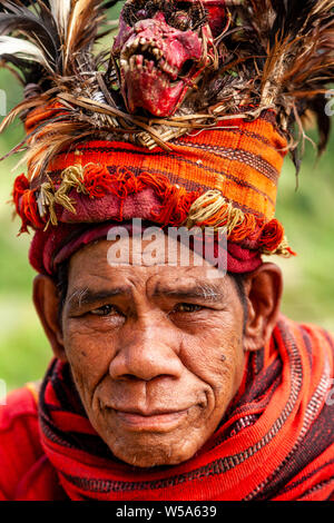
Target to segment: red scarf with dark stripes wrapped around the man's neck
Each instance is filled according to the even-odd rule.
[[[334,499],[333,349],[322,329],[281,317],[265,349],[248,355],[237,397],[205,446],[150,470],[112,456],[68,366],[55,361],[39,402],[45,452],[71,500]]]

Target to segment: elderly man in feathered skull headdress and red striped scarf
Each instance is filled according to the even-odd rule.
[[[333,499],[334,341],[279,314],[262,259],[293,255],[277,181],[323,108],[332,2],[129,0],[107,61],[99,3],[0,17],[30,39],[0,40],[27,83],[3,126],[22,111],[13,201],[55,355],[0,409],[0,497]]]

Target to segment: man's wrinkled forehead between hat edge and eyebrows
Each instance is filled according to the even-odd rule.
[[[163,231],[154,240],[136,235],[101,239],[85,246],[70,259],[70,280],[84,284],[87,278],[168,279],[186,283],[220,280],[225,273],[213,267],[188,245]],[[224,278],[226,279],[226,278]]]

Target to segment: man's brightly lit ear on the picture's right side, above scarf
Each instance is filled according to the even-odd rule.
[[[279,267],[263,264],[245,280],[248,316],[245,325],[245,351],[258,351],[271,338],[277,323],[283,277]]]

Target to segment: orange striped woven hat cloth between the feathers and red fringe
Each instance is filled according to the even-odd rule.
[[[31,111],[26,120],[27,131],[48,121],[55,110],[60,108],[56,109],[51,103]],[[52,124],[42,128],[33,140],[38,141],[51,131]],[[110,188],[112,190],[121,170],[127,175],[136,171],[139,176],[145,174],[145,185],[153,187],[159,186],[160,181],[165,186],[167,180],[188,193],[218,189],[237,208],[268,221],[275,213],[286,146],[286,138],[277,129],[276,115],[268,110],[252,121],[236,117],[228,124],[218,122],[202,132],[181,136],[168,142],[169,150],[159,146],[149,150],[124,140],[82,141],[55,156],[47,174],[57,185],[63,169],[91,165],[84,185],[89,197],[102,197]],[[31,167],[28,165],[28,178]],[[45,172],[40,175],[43,177]],[[41,179],[35,181],[31,185],[33,189],[38,188]],[[138,187],[132,189],[140,190]]]

